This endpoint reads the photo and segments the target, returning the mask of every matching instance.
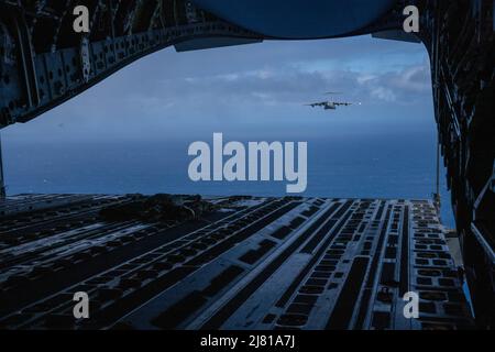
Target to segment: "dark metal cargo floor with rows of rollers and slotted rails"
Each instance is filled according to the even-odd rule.
[[[217,198],[201,219],[150,223],[100,218],[128,196],[65,197],[1,218],[3,328],[472,327],[427,200]],[[25,209],[23,199],[50,196],[9,202]],[[90,319],[75,320],[76,292],[88,293]],[[403,314],[409,292],[418,319]]]

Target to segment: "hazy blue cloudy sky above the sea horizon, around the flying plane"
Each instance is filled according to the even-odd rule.
[[[338,111],[304,103],[362,102]],[[144,57],[26,124],[11,143],[306,140],[431,130],[429,62],[421,44],[359,36],[260,44]]]

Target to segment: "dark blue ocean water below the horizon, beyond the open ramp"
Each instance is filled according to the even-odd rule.
[[[4,140],[8,193],[285,195],[285,183],[190,182],[187,147],[194,141]],[[453,227],[441,172],[442,220]],[[308,140],[308,196],[430,199],[435,177],[433,133]]]

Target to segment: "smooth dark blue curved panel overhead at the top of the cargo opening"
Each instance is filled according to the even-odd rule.
[[[377,21],[396,0],[193,0],[200,9],[266,36],[344,35]]]

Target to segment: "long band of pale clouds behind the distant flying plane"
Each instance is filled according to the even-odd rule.
[[[370,103],[408,105],[430,94],[428,66],[405,66],[389,73],[361,73],[329,69],[307,72],[301,67],[265,67],[260,70],[163,80],[160,95],[194,105],[287,105],[327,99],[328,90],[344,92],[334,99]],[[144,98],[148,100],[150,98]]]

